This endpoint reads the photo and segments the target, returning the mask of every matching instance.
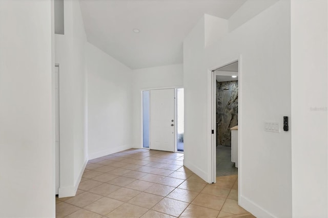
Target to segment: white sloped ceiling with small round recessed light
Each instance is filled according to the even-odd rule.
[[[245,1],[80,0],[80,7],[88,41],[140,69],[182,63],[182,41],[203,14],[228,19]]]

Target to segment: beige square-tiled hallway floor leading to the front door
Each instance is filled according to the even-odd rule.
[[[238,206],[237,175],[208,184],[182,160],[148,149],[90,160],[76,196],[56,198],[56,217],[254,217]]]

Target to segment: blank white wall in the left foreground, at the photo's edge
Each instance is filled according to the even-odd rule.
[[[0,217],[55,216],[53,30],[53,2],[0,1]]]

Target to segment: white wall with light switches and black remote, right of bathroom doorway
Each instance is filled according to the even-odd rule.
[[[241,55],[239,204],[259,217],[292,216],[293,126],[282,130],[291,118],[290,27],[290,2],[279,1],[207,50],[208,69]],[[265,132],[265,121],[280,133]]]

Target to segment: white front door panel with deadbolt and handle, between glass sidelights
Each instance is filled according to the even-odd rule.
[[[150,91],[150,149],[174,152],[174,89]]]

